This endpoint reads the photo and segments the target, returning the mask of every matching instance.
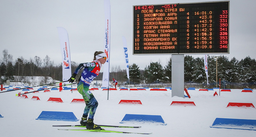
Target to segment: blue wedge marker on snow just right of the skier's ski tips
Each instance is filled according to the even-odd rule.
[[[119,123],[167,125],[160,115],[125,114]]]

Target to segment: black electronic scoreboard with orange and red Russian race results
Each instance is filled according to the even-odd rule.
[[[229,1],[133,6],[133,54],[229,54]]]

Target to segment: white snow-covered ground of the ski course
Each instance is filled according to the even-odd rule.
[[[6,87],[4,85],[4,87]],[[13,86],[15,88],[15,86]],[[22,86],[21,86],[22,88]],[[37,90],[39,87],[34,87]],[[73,87],[74,88],[74,87]],[[6,89],[7,90],[7,89]],[[3,91],[6,91],[3,90]],[[30,91],[34,91],[30,90]],[[243,93],[242,89],[232,89],[231,92],[218,90],[199,91],[188,90],[191,98],[172,97],[167,91],[127,91],[127,90],[94,90],[92,93],[98,100],[98,108],[94,123],[99,125],[141,126],[141,128],[105,128],[108,130],[126,132],[152,132],[150,135],[120,134],[106,132],[64,131],[60,129],[83,129],[75,127],[52,127],[52,125],[79,124],[83,114],[84,103],[71,103],[73,99],[82,99],[77,92],[70,90],[51,90],[51,92],[29,93],[27,99],[15,94],[22,90],[0,93],[0,136],[1,137],[48,137],[48,136],[104,136],[104,137],[252,137],[254,130],[210,128],[215,118],[256,119],[255,108],[227,108],[229,102],[252,103],[256,105],[256,94]],[[40,100],[32,100],[33,96]],[[47,101],[50,97],[61,98],[63,103]],[[108,99],[108,100],[107,100]],[[120,100],[140,100],[142,105],[119,104]],[[196,106],[171,106],[172,101],[193,101]],[[36,120],[42,111],[73,112],[79,121]],[[167,125],[119,123],[125,114],[161,115]]]

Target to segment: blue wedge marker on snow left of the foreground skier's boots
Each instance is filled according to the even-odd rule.
[[[73,112],[42,111],[37,120],[78,121]]]

